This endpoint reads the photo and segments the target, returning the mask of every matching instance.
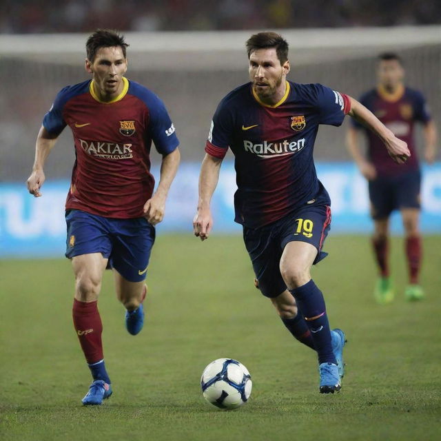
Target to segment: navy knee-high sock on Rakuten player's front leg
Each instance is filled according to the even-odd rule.
[[[318,363],[337,364],[331,344],[331,329],[326,315],[325,299],[322,291],[311,279],[301,287],[290,289],[289,292],[296,299],[298,309],[305,317],[306,325],[311,331],[314,349],[318,353]]]

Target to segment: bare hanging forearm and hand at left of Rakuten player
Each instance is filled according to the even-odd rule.
[[[220,165],[223,158],[215,158],[210,154],[205,154],[199,174],[199,198],[198,211],[193,220],[193,230],[196,237],[205,240],[212,231],[213,218],[210,210],[210,203],[214,190],[218,185]]]

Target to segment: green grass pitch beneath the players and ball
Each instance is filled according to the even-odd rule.
[[[330,236],[313,277],[332,327],[349,343],[341,393],[318,393],[315,354],[292,338],[253,286],[240,236],[158,235],[146,323],[127,334],[106,271],[99,308],[114,394],[82,407],[90,374],[71,319],[67,259],[0,260],[0,439],[438,440],[441,433],[441,236],[424,238],[427,298],[404,301],[402,238],[393,238],[397,297],[373,302],[369,238]],[[199,386],[220,357],[252,374],[236,411],[210,406]]]

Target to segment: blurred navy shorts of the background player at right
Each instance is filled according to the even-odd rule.
[[[420,188],[420,170],[413,170],[399,176],[379,176],[369,181],[372,218],[388,218],[396,209],[420,209]]]

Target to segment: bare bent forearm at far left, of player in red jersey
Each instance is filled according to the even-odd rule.
[[[43,167],[46,158],[49,156],[50,151],[57,142],[58,137],[58,134],[52,134],[48,132],[43,125],[41,126],[37,136],[37,141],[35,143],[34,165],[32,166],[32,173],[28,178],[28,191],[36,198],[41,196],[41,185],[43,185],[45,181]]]

